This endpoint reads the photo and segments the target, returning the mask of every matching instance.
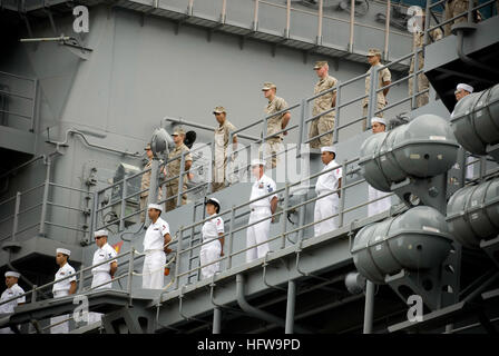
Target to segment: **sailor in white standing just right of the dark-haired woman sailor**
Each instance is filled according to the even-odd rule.
[[[272,178],[264,175],[264,160],[252,160],[252,172],[256,178],[256,181],[252,187],[252,195],[250,197],[250,200],[257,199],[267,194],[271,195],[250,205],[252,211],[250,214],[248,224],[262,220],[265,217],[271,217],[273,214],[275,214],[275,209],[277,208],[277,195],[272,195],[272,192],[276,190],[276,185]],[[246,233],[246,247],[265,243],[268,239],[272,220],[271,218],[268,218],[262,222],[248,226]],[[246,250],[246,261],[250,263],[256,258],[262,258],[268,253],[268,244],[262,244],[256,246],[255,248],[251,248]]]

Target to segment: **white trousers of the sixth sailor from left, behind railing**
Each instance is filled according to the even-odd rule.
[[[253,208],[250,214],[248,224],[253,224],[254,221],[258,221],[265,217],[270,217],[272,215],[271,208],[261,207]],[[268,233],[271,230],[271,218],[264,220],[262,222],[248,226],[246,231],[246,247],[254,246],[260,243],[264,243],[268,239]],[[264,257],[270,250],[268,244],[258,245],[255,248],[251,248],[246,250],[246,261],[251,263],[257,258]]]

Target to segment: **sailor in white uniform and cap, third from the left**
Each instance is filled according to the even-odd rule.
[[[107,243],[107,230],[98,230],[94,233],[96,239],[97,250],[94,253],[92,265],[104,263],[105,260],[116,257],[118,254],[116,250]],[[102,289],[112,287],[112,277],[118,269],[118,263],[116,259],[110,260],[108,264],[104,264],[91,269],[94,278],[91,279],[91,288]],[[106,284],[106,281],[109,281]],[[104,285],[102,285],[104,284]],[[102,317],[101,313],[89,313],[88,323],[96,323]]]

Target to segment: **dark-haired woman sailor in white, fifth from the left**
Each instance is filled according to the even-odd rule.
[[[221,202],[217,198],[209,198],[206,201],[206,214],[215,216],[221,211]],[[224,220],[217,216],[203,225],[203,246],[199,253],[199,264],[209,264],[224,256]],[[219,270],[219,261],[203,267],[200,269],[203,278],[209,278]]]

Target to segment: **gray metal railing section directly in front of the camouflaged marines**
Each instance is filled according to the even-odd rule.
[[[252,123],[248,123],[248,125],[246,125],[246,126],[244,126],[244,127],[242,127],[242,128],[231,132],[228,141],[232,142],[233,136],[237,135],[238,137],[244,137],[244,138],[248,139],[251,141],[250,145],[264,144],[268,139],[271,139],[273,137],[276,137],[276,136],[278,136],[278,135],[281,135],[283,132],[290,132],[290,134],[295,132],[295,134],[297,134],[296,147],[299,149],[300,149],[300,147],[302,147],[302,145],[310,144],[312,140],[321,138],[321,137],[323,137],[325,135],[333,135],[333,142],[337,144],[340,131],[351,127],[352,125],[359,123],[359,122],[364,120],[364,121],[366,121],[366,127],[369,128],[370,127],[370,122],[369,122],[370,120],[368,120],[368,118],[371,118],[373,116],[376,116],[376,115],[379,115],[381,112],[384,112],[384,111],[393,109],[393,108],[400,108],[402,106],[404,106],[403,107],[404,111],[407,111],[408,109],[410,110],[411,108],[415,108],[415,103],[417,103],[415,98],[419,95],[428,92],[429,89],[424,89],[424,90],[418,91],[417,90],[418,88],[415,88],[413,90],[413,92],[412,92],[412,96],[408,96],[408,97],[405,97],[405,98],[403,98],[403,99],[401,99],[401,100],[399,100],[399,101],[397,101],[394,103],[388,105],[387,107],[384,107],[381,110],[376,110],[375,109],[375,107],[376,107],[375,95],[378,95],[378,92],[380,92],[380,91],[382,91],[384,89],[392,88],[393,86],[398,86],[398,85],[400,85],[400,83],[402,83],[404,81],[408,81],[410,78],[415,78],[418,75],[422,73],[423,70],[422,69],[421,70],[418,69],[419,68],[418,67],[418,60],[419,60],[418,53],[420,53],[421,51],[423,51],[422,48],[415,49],[414,52],[411,52],[411,53],[409,53],[407,56],[403,56],[403,57],[399,58],[398,60],[394,60],[394,61],[392,61],[392,62],[390,62],[390,63],[388,63],[385,66],[381,66],[380,68],[375,68],[375,70],[371,73],[370,93],[373,93],[373,95],[363,93],[363,95],[361,95],[359,97],[355,97],[355,98],[353,98],[351,100],[344,100],[343,96],[342,96],[342,92],[348,90],[345,88],[354,87],[359,82],[363,82],[365,80],[365,78],[368,76],[370,76],[370,73],[364,73],[364,75],[358,76],[355,78],[352,78],[352,79],[343,81],[343,82],[342,81],[337,81],[337,83],[336,83],[336,86],[334,88],[331,88],[331,89],[329,89],[326,91],[320,92],[320,93],[314,95],[312,97],[305,98],[301,102],[291,105],[288,108],[283,109],[280,112],[275,112],[275,113],[265,116],[262,119],[257,119],[257,120],[253,121]],[[390,83],[388,86],[383,86],[383,87],[381,87],[379,89],[376,88],[378,87],[376,86],[376,83],[378,83],[378,79],[376,78],[378,78],[379,70],[381,70],[383,68],[389,68],[390,69],[392,66],[394,66],[397,63],[400,63],[402,61],[410,60],[411,58],[414,60],[414,68],[415,69],[414,69],[413,73],[404,76],[404,77],[398,79],[397,81],[394,81],[394,82],[392,82],[392,83]],[[417,80],[415,79],[413,80],[413,83],[414,83],[414,87],[415,87],[415,85],[417,85]],[[309,112],[307,112],[309,111],[309,107],[310,107],[311,103],[313,103],[314,99],[316,99],[316,98],[319,98],[321,96],[327,95],[331,91],[336,91],[336,105],[335,105],[335,107],[333,107],[333,108],[331,108],[331,109],[329,109],[326,111],[323,111],[323,112],[321,112],[319,115],[310,116]],[[359,105],[359,110],[361,110],[361,108],[362,108],[361,101],[364,98],[369,98],[369,101],[368,101],[368,115],[359,117],[359,118],[355,118],[353,120],[350,117],[349,118],[350,121],[343,122],[342,118],[345,117],[345,116],[342,116],[342,110],[344,110],[346,107],[351,107],[353,105]],[[408,102],[410,102],[410,105],[407,105]],[[285,129],[282,129],[282,130],[280,130],[277,132],[274,132],[272,135],[267,135],[266,130],[267,130],[267,121],[268,121],[268,119],[271,119],[272,117],[282,115],[284,112],[287,112],[287,111],[294,112],[294,113],[297,112],[297,116],[299,116],[297,122],[292,119],[290,121],[290,126],[286,127]],[[331,129],[330,131],[316,135],[314,137],[306,137],[309,125],[313,120],[316,120],[321,116],[326,115],[326,113],[329,113],[331,111],[335,111],[335,123],[334,123],[333,129]],[[294,122],[296,122],[296,123],[294,123]],[[260,138],[254,138],[254,136],[250,135],[252,130],[253,131],[254,130],[260,131]],[[214,145],[213,141],[209,142],[209,144],[204,144],[204,145],[202,145],[202,146],[190,150],[190,152],[182,152],[179,155],[179,157],[176,157],[176,158],[173,158],[173,159],[168,159],[164,164],[162,164],[159,166],[159,170],[163,170],[163,168],[166,167],[169,162],[173,162],[173,161],[176,161],[176,160],[180,160],[180,174],[176,175],[174,177],[169,177],[169,178],[160,180],[159,185],[158,185],[158,190],[159,190],[159,188],[162,188],[163,191],[166,191],[165,187],[166,187],[166,185],[168,185],[168,182],[170,182],[170,181],[179,181],[180,176],[184,177],[185,175],[187,175],[189,172],[193,172],[193,168],[190,168],[190,170],[185,170],[185,156],[188,155],[188,154],[193,154],[193,152],[196,152],[197,150],[203,150],[203,149],[209,148],[211,152],[212,152],[212,157],[211,157],[212,161],[209,162],[209,168],[212,168],[213,161],[214,161],[214,157],[213,157],[214,146],[213,145]],[[247,145],[247,146],[241,145],[241,148],[237,148],[233,154],[238,154],[239,151],[248,150],[250,149],[250,145]],[[277,155],[285,155],[286,152],[287,152],[287,149],[278,152]],[[268,158],[268,157],[265,157],[265,158]],[[242,169],[243,170],[247,170],[248,167],[250,167],[250,164],[247,164]],[[119,181],[117,181],[117,182],[115,182],[115,184],[112,184],[112,185],[110,185],[110,186],[108,186],[108,187],[106,187],[104,189],[100,189],[100,190],[98,190],[96,192],[96,196],[94,198],[94,202],[95,202],[95,206],[94,206],[94,220],[92,220],[94,221],[92,222],[94,230],[97,230],[99,228],[108,228],[109,226],[112,226],[112,225],[118,225],[119,230],[123,230],[125,228],[125,221],[130,220],[130,219],[133,219],[134,217],[137,217],[140,214],[145,214],[144,212],[145,211],[144,207],[141,209],[140,208],[135,209],[134,211],[129,212],[128,215],[124,214],[125,212],[125,207],[127,205],[127,201],[129,201],[130,199],[133,199],[135,197],[139,197],[141,194],[148,191],[148,189],[143,189],[143,190],[137,190],[137,191],[130,194],[130,192],[126,191],[126,187],[127,187],[127,181],[129,181],[130,179],[137,179],[137,177],[141,177],[143,175],[148,174],[150,171],[151,171],[150,168],[149,169],[145,169],[141,172],[131,175],[129,177],[125,177],[123,180],[119,180]],[[209,176],[211,176],[211,174],[209,174]],[[98,205],[102,201],[102,196],[105,196],[106,192],[110,194],[110,191],[115,187],[117,187],[117,186],[123,187],[121,191],[124,194],[121,195],[121,198],[119,200],[116,200],[116,201],[109,201],[109,204],[102,205],[101,207],[99,207]],[[185,194],[188,194],[188,192],[190,192],[193,190],[196,190],[196,189],[205,189],[206,194],[209,194],[211,192],[211,187],[212,187],[211,186],[211,179],[207,179],[207,181],[202,182],[202,184],[199,184],[197,186],[190,187],[187,190],[184,189],[184,185],[183,184],[178,184],[178,191],[177,191],[176,196],[167,197],[166,194],[165,194],[163,199],[159,199],[156,202],[158,202],[158,204],[166,204],[167,201],[174,200],[175,201],[175,206],[178,207],[178,206],[180,206],[182,197]],[[121,214],[118,217],[116,217],[116,218],[114,218],[114,219],[111,219],[109,221],[101,221],[101,222],[99,222],[97,220],[99,215],[100,216],[105,216],[105,214],[106,214],[105,211],[111,211],[112,209],[119,210],[119,211],[121,211]]]

